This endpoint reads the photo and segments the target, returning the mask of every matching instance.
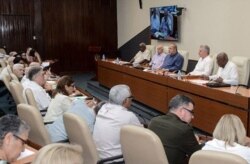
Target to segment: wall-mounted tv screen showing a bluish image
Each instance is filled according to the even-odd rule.
[[[151,39],[178,40],[177,6],[150,8]]]

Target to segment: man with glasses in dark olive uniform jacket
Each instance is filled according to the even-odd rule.
[[[153,118],[148,128],[161,139],[169,163],[182,164],[201,149],[189,125],[194,118],[194,102],[187,96],[177,95],[170,100],[168,108],[169,112]]]

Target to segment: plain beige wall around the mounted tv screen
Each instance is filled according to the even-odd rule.
[[[179,18],[179,49],[189,51],[189,58],[198,59],[200,44],[207,44],[211,54],[221,51],[229,57],[249,57],[250,10],[248,0],[138,0],[117,1],[118,48],[150,25],[149,8],[167,5],[185,7]],[[169,42],[151,40],[151,44]]]

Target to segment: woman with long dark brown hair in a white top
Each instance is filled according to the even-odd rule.
[[[64,112],[68,111],[72,100],[69,95],[75,91],[74,81],[69,76],[62,76],[57,83],[56,90],[52,95],[44,122],[53,122]]]

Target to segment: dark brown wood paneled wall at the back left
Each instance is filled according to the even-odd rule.
[[[3,40],[0,46],[19,51],[31,45],[38,49],[43,59],[59,59],[55,65],[57,72],[93,70],[94,53],[89,52],[90,46],[100,46],[101,53],[113,55],[117,52],[114,0],[0,0],[0,13],[0,29],[5,27],[6,23],[1,20],[6,13],[29,20],[22,22],[28,38],[24,43],[17,42],[21,46],[7,42],[2,37],[6,36],[5,31],[0,32],[0,40]]]

